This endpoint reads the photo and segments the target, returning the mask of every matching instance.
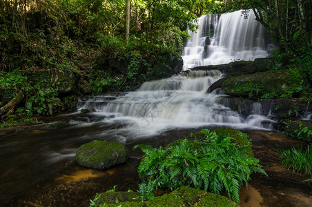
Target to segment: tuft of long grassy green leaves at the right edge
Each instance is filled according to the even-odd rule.
[[[280,160],[283,166],[289,166],[293,171],[304,172],[312,177],[312,148],[292,147],[280,150]]]

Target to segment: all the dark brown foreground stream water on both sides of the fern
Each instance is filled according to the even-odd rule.
[[[0,138],[1,206],[88,206],[95,193],[117,185],[117,190],[137,190],[137,166],[142,152],[135,144],[164,146],[189,135],[196,129],[170,130],[162,135],[128,143],[129,159],[124,165],[108,170],[92,170],[79,166],[75,150],[88,141],[106,139],[101,133],[112,126],[64,128],[61,130],[32,129]],[[241,206],[312,206],[309,178],[280,166],[278,148],[301,146],[302,141],[280,132],[245,131],[253,140],[255,157],[269,177],[252,175],[241,190]]]

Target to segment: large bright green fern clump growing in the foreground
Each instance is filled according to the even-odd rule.
[[[249,157],[235,147],[231,137],[217,136],[210,130],[202,130],[204,140],[182,139],[158,149],[138,145],[145,155],[139,165],[140,193],[146,199],[154,196],[153,190],[181,186],[194,186],[220,194],[223,189],[228,197],[239,202],[240,186],[247,184],[252,172],[261,172],[258,159]]]

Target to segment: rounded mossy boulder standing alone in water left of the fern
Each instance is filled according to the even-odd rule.
[[[127,148],[117,142],[92,141],[80,146],[76,152],[79,165],[100,170],[122,164],[127,159]]]

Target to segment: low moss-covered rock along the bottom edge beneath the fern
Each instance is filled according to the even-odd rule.
[[[128,194],[128,195],[127,195]],[[121,202],[128,199],[128,201]],[[102,193],[95,202],[97,206],[239,206],[230,199],[204,190],[188,186],[177,188],[170,194],[155,197],[148,201],[138,202],[135,193]]]

